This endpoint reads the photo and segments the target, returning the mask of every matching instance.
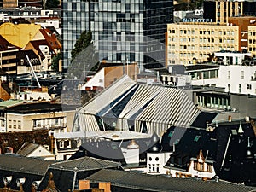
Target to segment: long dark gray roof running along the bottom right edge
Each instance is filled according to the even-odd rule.
[[[191,178],[153,176],[138,172],[101,170],[87,177],[91,183],[110,182],[112,187],[146,191],[194,191],[194,192],[248,192],[256,188],[223,181],[202,181]]]

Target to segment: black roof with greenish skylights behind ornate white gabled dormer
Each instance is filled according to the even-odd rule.
[[[183,135],[173,139],[177,132],[184,131],[184,128],[171,128],[166,132],[164,139],[170,141],[170,145],[175,144],[175,152],[171,158],[166,162],[166,167],[176,167],[187,170],[191,157],[196,157],[202,149],[207,160],[216,160],[218,142],[216,140],[216,133],[205,130],[186,129]],[[162,139],[163,140],[163,139]],[[166,142],[166,141],[165,141]],[[215,162],[219,164],[220,162]]]

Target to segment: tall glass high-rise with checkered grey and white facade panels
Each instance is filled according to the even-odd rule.
[[[136,61],[140,70],[164,64],[172,6],[173,0],[62,1],[63,67],[69,66],[71,50],[84,30],[92,32],[99,61]]]

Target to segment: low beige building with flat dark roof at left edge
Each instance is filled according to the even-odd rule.
[[[75,108],[62,111],[61,103],[17,102],[15,105],[0,108],[2,130],[54,132],[70,131],[73,125]]]

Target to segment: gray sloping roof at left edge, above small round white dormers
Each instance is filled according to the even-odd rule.
[[[42,160],[32,157],[23,157],[17,154],[0,154],[0,170],[23,172],[44,176],[48,166],[54,160]]]

